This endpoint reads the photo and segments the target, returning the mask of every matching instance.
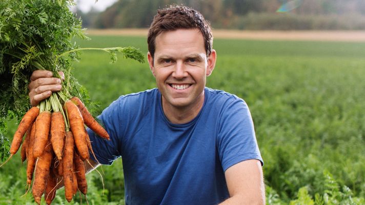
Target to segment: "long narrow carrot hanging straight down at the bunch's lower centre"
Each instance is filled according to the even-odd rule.
[[[64,171],[65,197],[68,202],[72,200],[73,196],[73,146],[74,140],[71,131],[66,132],[65,137],[65,151],[62,159]]]

